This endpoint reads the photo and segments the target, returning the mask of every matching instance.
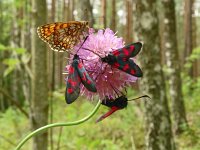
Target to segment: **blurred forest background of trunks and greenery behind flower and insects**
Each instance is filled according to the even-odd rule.
[[[0,150],[14,149],[32,130],[83,118],[95,107],[64,99],[67,54],[38,38],[51,22],[86,20],[111,28],[126,44],[143,41],[144,76],[128,88],[130,102],[95,124],[58,127],[29,140],[33,150],[199,150],[200,0],[0,0]]]

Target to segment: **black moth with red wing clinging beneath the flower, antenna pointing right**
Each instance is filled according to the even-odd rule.
[[[126,108],[127,105],[128,105],[128,101],[137,100],[137,99],[140,99],[140,98],[143,98],[143,97],[150,98],[148,95],[143,95],[143,96],[140,96],[140,97],[128,100],[127,97],[126,97],[126,95],[121,95],[121,96],[119,96],[116,99],[107,96],[102,101],[101,104],[104,105],[104,106],[109,107],[110,110],[107,113],[105,113],[104,115],[102,115],[101,117],[99,117],[96,120],[96,122],[100,122],[103,119],[107,118],[108,116],[112,115],[114,112]]]

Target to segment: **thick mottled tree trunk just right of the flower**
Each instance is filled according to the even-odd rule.
[[[161,65],[159,25],[156,0],[137,0],[136,22],[137,37],[144,42],[140,54],[143,70],[141,89],[152,99],[145,102],[146,149],[175,149],[171,131],[171,120],[166,98],[165,80]]]

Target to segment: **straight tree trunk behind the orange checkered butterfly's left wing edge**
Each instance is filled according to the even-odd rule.
[[[47,50],[36,32],[38,26],[46,23],[46,6],[45,0],[32,0],[32,130],[48,123]],[[47,150],[47,141],[47,132],[33,137],[33,150]]]

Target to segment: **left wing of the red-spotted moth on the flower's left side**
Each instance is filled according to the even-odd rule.
[[[76,64],[73,62],[69,68],[69,76],[67,79],[67,86],[65,91],[65,100],[67,104],[74,102],[80,94],[81,79],[75,67]]]

